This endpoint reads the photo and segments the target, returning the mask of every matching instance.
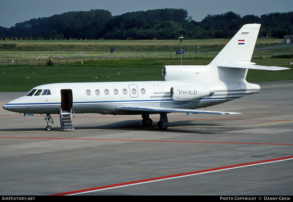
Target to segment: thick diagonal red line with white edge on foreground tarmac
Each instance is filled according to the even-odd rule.
[[[53,194],[51,196],[73,195],[73,194],[100,191],[100,190],[111,189],[111,188],[113,189],[113,188],[118,188],[118,187],[121,187],[121,186],[131,186],[131,185],[134,185],[134,184],[143,184],[143,183],[148,183],[148,182],[151,182],[151,181],[160,181],[160,180],[166,180],[166,179],[173,179],[173,178],[178,178],[178,177],[202,174],[202,173],[207,173],[207,172],[215,172],[215,171],[221,171],[221,170],[227,170],[227,169],[233,169],[233,168],[239,168],[239,167],[246,167],[246,166],[252,166],[252,165],[255,165],[255,164],[264,164],[264,163],[276,162],[276,161],[282,161],[282,160],[289,160],[289,159],[293,159],[293,156],[282,157],[282,158],[277,158],[277,159],[268,159],[268,160],[256,161],[256,162],[249,162],[249,163],[243,163],[243,164],[236,164],[236,165],[231,165],[231,166],[224,166],[224,167],[219,167],[219,168],[199,170],[199,171],[181,173],[181,174],[175,174],[175,175],[167,175],[167,176],[161,176],[161,177],[155,177],[155,178],[149,178],[149,179],[143,179],[143,180],[137,180],[137,181],[124,182],[124,183],[119,183],[119,184],[111,184],[111,185],[99,186],[99,187],[94,187],[94,188],[89,188],[89,189],[81,189],[81,190],[76,190],[76,191],[57,193],[57,194]]]

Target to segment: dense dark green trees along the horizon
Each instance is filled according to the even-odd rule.
[[[293,35],[293,11],[260,17],[227,12],[192,20],[185,9],[156,9],[112,16],[110,11],[72,11],[47,18],[0,26],[3,38],[33,39],[185,39],[228,38],[247,23],[262,24],[260,36],[282,38]]]

